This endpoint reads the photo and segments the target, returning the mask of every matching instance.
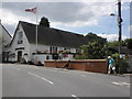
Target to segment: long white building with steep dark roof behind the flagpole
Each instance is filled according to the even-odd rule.
[[[20,21],[10,44],[9,61],[42,62],[45,59],[72,59],[80,45],[86,44],[84,35],[53,28]],[[61,54],[68,52],[70,54]],[[36,54],[37,53],[37,54]]]

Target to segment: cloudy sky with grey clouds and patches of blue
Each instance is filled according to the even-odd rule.
[[[86,35],[89,32],[99,36],[107,37],[108,41],[118,40],[117,16],[110,16],[110,13],[117,13],[117,0],[108,2],[92,2],[86,0],[67,0],[62,2],[47,2],[40,0],[4,0],[0,8],[0,19],[11,35],[14,34],[19,21],[36,23],[36,14],[25,12],[28,8],[37,6],[38,22],[42,16],[46,16],[51,22],[51,28],[75,32]],[[50,1],[50,0],[48,0]],[[122,37],[130,37],[130,2],[122,0]]]

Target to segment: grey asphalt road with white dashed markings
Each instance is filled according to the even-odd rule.
[[[3,97],[130,97],[130,77],[33,65],[2,65]]]

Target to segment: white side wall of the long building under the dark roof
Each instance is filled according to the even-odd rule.
[[[52,47],[57,47],[57,46],[52,46]],[[64,51],[65,47],[57,47],[57,52]],[[37,45],[37,51],[44,53],[51,53],[51,46],[50,45]],[[35,44],[30,44],[30,61],[32,62],[41,62],[44,63],[46,61],[46,56],[48,56],[48,59],[53,59],[53,56],[51,54],[37,54],[33,55],[33,53],[36,53],[36,45]],[[76,53],[76,48],[70,48],[70,53]],[[63,56],[62,56],[63,57]],[[63,57],[62,59],[68,61],[73,59],[72,54],[67,54],[67,57]]]

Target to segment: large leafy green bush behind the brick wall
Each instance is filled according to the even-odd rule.
[[[108,54],[107,40],[97,36],[94,33],[86,35],[88,44],[82,45],[80,50],[82,53],[76,56],[76,59],[102,59]]]

